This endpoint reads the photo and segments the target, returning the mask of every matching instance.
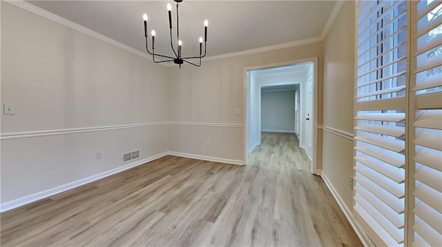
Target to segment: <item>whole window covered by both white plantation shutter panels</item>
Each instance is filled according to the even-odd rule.
[[[442,2],[359,1],[356,22],[354,218],[442,246]]]

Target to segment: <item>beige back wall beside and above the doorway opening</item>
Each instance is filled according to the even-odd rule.
[[[322,43],[311,43],[271,52],[207,61],[203,63],[202,67],[186,66],[183,69],[173,67],[171,68],[170,120],[173,122],[243,124],[245,109],[244,68],[318,57],[318,78],[321,84],[323,78],[322,52]],[[239,115],[235,114],[237,107],[240,108]],[[243,160],[242,128],[238,131],[237,127],[222,127],[222,129],[213,127],[218,129],[212,136],[208,136],[202,131],[206,128],[212,127],[197,127],[196,133],[198,134],[186,134],[188,138],[184,139],[177,138],[177,136],[182,136],[182,132],[189,133],[195,127],[171,125],[171,151],[204,156],[212,155],[215,158],[229,160]],[[240,137],[236,136],[237,134]],[[200,148],[209,138],[211,146]],[[216,146],[213,146],[212,143]]]

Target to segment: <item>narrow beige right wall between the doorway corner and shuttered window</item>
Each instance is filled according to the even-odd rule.
[[[345,1],[324,41],[323,125],[353,133],[354,1]],[[352,207],[353,141],[323,130],[323,173]]]

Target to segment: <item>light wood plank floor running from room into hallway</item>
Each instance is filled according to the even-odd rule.
[[[1,213],[1,246],[362,246],[290,133],[249,165],[166,156]]]

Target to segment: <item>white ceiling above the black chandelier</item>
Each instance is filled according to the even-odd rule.
[[[145,51],[142,14],[155,29],[155,52],[171,55],[166,4],[174,1],[28,1],[34,6]],[[198,55],[209,20],[207,56],[317,38],[336,1],[190,1],[180,3],[183,56]],[[175,38],[176,39],[176,38]]]

